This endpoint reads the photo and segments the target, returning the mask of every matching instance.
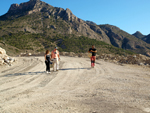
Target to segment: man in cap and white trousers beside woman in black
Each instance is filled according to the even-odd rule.
[[[51,52],[51,59],[53,60],[53,70],[58,71],[60,56],[59,56],[59,51],[57,47],[55,47],[55,49]]]

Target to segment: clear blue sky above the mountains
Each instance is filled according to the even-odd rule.
[[[0,15],[13,3],[29,0],[1,0]],[[74,15],[96,24],[110,24],[133,34],[150,34],[150,0],[42,0],[54,7],[69,8]]]

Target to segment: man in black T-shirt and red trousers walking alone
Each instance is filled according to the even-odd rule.
[[[90,59],[91,59],[91,67],[94,68],[95,60],[96,60],[96,53],[97,53],[97,50],[96,50],[95,46],[92,45],[92,48],[90,48],[88,52],[92,53],[92,56],[90,57]]]

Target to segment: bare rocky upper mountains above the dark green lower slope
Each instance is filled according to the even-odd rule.
[[[116,26],[84,21],[68,8],[53,7],[40,0],[30,0],[20,5],[12,4],[9,11],[0,16],[0,20],[0,37],[20,31],[29,32],[28,34],[40,33],[49,39],[56,34],[85,36],[136,53],[150,52],[150,44]]]

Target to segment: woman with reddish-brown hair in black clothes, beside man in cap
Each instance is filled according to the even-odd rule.
[[[46,50],[46,53],[45,53],[45,64],[46,64],[46,72],[51,73],[50,72],[50,51],[49,50]]]

